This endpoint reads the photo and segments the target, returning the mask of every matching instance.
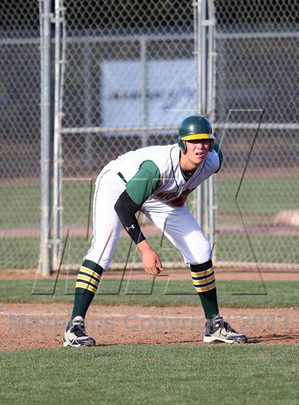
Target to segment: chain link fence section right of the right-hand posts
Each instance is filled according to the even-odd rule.
[[[215,6],[216,127],[225,157],[217,174],[217,259],[294,265],[298,4],[216,0]]]

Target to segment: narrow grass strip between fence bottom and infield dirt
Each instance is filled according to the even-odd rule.
[[[167,278],[123,281],[105,280],[95,296],[99,305],[199,305],[199,297],[190,280]],[[266,281],[266,295],[260,281],[219,280],[217,293],[221,307],[298,307],[299,282]],[[53,303],[72,302],[75,279],[2,280],[0,302]]]

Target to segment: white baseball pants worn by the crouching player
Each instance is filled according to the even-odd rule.
[[[107,164],[95,183],[93,198],[93,240],[85,259],[98,263],[104,270],[112,261],[122,223],[114,206],[125,190],[112,164]],[[180,207],[159,201],[146,201],[145,214],[182,253],[185,263],[201,264],[211,259],[211,245],[187,205]],[[145,237],[147,237],[145,235]]]

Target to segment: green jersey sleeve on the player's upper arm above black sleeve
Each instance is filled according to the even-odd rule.
[[[142,206],[157,188],[159,178],[160,171],[157,164],[152,162],[152,160],[145,160],[145,162],[140,164],[140,168],[135,176],[127,182],[125,186],[127,194],[129,194],[135,204]]]

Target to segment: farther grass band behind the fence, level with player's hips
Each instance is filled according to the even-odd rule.
[[[237,214],[236,191],[240,179],[217,178],[218,213]],[[90,180],[63,181],[63,223],[85,225],[90,203]],[[40,185],[1,185],[1,227],[39,226]],[[297,177],[268,179],[244,178],[238,195],[243,214],[273,215],[282,209],[298,209]],[[4,215],[5,213],[5,215]]]

